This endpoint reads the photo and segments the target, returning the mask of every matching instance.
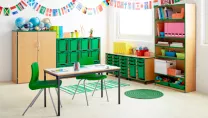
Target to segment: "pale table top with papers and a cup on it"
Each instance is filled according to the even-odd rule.
[[[44,69],[45,72],[54,76],[70,76],[70,75],[81,75],[89,73],[101,73],[108,71],[120,70],[120,67],[111,66],[106,64],[94,64],[80,67],[79,71],[74,71],[74,67],[63,67],[63,68],[49,68]]]

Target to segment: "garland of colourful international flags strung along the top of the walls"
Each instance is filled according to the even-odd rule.
[[[72,0],[65,6],[61,8],[47,8],[46,6],[41,5],[37,0],[20,0],[19,3],[11,7],[2,7],[0,6],[0,15],[10,16],[16,15],[26,7],[30,6],[32,9],[38,13],[49,16],[62,16],[70,13],[74,8],[87,15],[96,15],[103,11],[107,6],[119,8],[119,9],[128,9],[128,10],[148,10],[152,9],[153,1],[152,0],[142,0],[141,1],[120,1],[120,0],[103,0],[98,6],[94,8],[88,8],[84,6],[81,2]],[[179,0],[180,1],[180,0]]]

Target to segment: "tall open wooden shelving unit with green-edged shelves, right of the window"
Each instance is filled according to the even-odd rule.
[[[185,10],[185,16],[182,19],[159,19],[158,16],[158,8],[171,8],[174,12],[179,12],[181,8]],[[168,85],[162,85],[156,83],[156,85],[163,86],[166,88],[171,88],[173,90],[181,91],[181,92],[192,92],[196,90],[196,8],[195,4],[175,4],[175,5],[163,5],[163,6],[155,6],[155,59],[162,60],[175,60],[176,61],[176,69],[182,70],[184,76],[170,76],[166,74],[155,73],[156,76],[167,77],[170,80],[174,79],[183,79],[184,88],[176,88],[171,86],[174,82],[168,82]],[[174,36],[158,36],[158,23],[184,23],[185,37],[174,37]],[[175,47],[175,46],[164,46],[157,44],[158,41],[165,42],[179,42],[183,43],[183,47]],[[181,52],[185,54],[184,59],[180,59],[177,57],[169,57],[162,56],[161,49],[166,50],[174,50],[176,52]],[[171,83],[172,82],[172,83]]]

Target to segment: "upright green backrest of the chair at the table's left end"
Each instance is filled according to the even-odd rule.
[[[38,63],[34,62],[31,65],[32,75],[29,83],[29,88],[33,89],[33,85],[38,81],[39,79],[39,67]]]

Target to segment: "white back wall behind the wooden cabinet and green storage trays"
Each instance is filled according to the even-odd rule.
[[[101,3],[102,0],[93,1],[85,0],[85,2],[91,1],[91,7]],[[11,6],[17,4],[19,1],[16,0],[1,0],[1,6]],[[49,8],[60,8],[69,3],[68,0],[41,0],[40,3]],[[14,22],[17,17],[24,17],[29,20],[31,17],[45,18],[30,7],[20,12],[16,16],[0,16],[0,81],[10,81],[12,77],[12,30],[15,29]],[[64,31],[74,31],[79,29],[80,25],[84,25],[86,30],[86,36],[89,36],[88,31],[90,28],[94,29],[94,36],[101,37],[101,60],[104,62],[104,52],[106,52],[106,38],[107,38],[107,9],[104,9],[98,15],[88,16],[82,14],[77,9],[74,9],[71,13],[61,17],[51,18],[53,25],[64,26]],[[55,53],[55,52],[54,52]]]

